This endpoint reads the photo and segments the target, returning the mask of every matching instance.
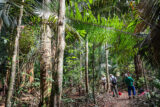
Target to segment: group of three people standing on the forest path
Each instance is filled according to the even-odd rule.
[[[128,96],[129,96],[129,99],[131,98],[131,91],[133,93],[133,98],[135,98],[135,95],[136,95],[136,90],[135,90],[135,87],[134,87],[134,80],[131,76],[129,76],[129,74],[125,74],[125,83],[127,85],[127,88],[128,88]],[[104,86],[104,90],[105,90],[105,87],[106,87],[106,77],[105,75],[102,75],[102,84]],[[110,74],[110,85],[111,85],[111,90],[113,92],[113,97],[117,96],[119,97],[119,92],[118,92],[118,88],[117,88],[117,78],[113,75],[113,74]]]

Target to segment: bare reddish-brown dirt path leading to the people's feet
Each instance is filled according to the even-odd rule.
[[[119,98],[115,98],[112,102],[108,102],[104,107],[134,107],[131,105],[132,99],[128,99],[128,93],[123,92]]]

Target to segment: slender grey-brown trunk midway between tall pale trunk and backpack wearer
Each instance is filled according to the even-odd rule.
[[[88,83],[88,38],[86,37],[85,43],[85,85],[86,85],[86,93],[89,93],[89,83]]]

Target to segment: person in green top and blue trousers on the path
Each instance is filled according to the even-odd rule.
[[[128,87],[128,96],[129,96],[129,99],[131,99],[131,91],[133,92],[133,98],[135,98],[135,95],[136,95],[136,91],[135,91],[135,87],[133,85],[133,78],[128,76],[128,74],[126,73],[125,74],[125,83]]]

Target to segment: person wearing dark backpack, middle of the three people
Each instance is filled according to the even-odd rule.
[[[111,89],[113,91],[113,97],[119,97],[118,88],[117,88],[117,78],[110,74],[110,82],[111,82]]]

